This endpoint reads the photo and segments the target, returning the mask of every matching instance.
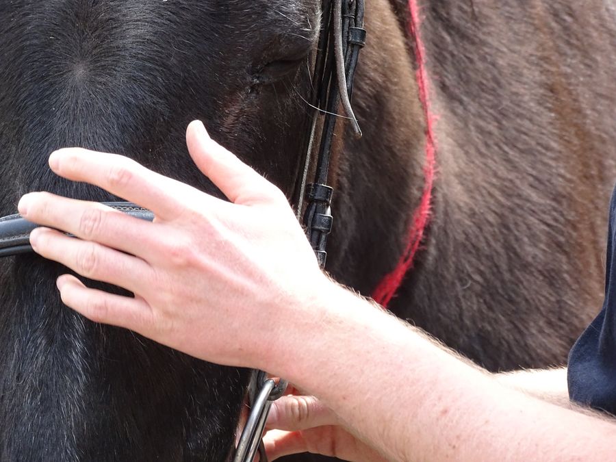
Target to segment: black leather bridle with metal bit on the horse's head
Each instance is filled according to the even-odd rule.
[[[340,117],[339,105],[344,107],[357,136],[361,136],[350,99],[359,51],[365,44],[363,29],[364,0],[322,0],[322,23],[313,73],[311,75],[310,132],[307,149],[301,159],[302,170],[296,184],[294,203],[297,216],[303,214],[307,238],[324,268],[327,257],[327,238],[331,233],[333,217],[331,199],[333,188],[328,185],[333,136]],[[320,137],[316,137],[322,123]],[[318,144],[318,151],[315,146]],[[316,155],[314,152],[316,151]],[[307,183],[311,169],[314,181]],[[128,202],[103,203],[116,210],[143,220],[153,220],[153,213]],[[0,218],[0,257],[32,252],[29,233],[37,227],[18,214]],[[272,402],[285,393],[287,382],[278,383],[264,371],[255,371],[248,387],[251,412],[240,436],[233,462],[252,462],[257,452],[266,461],[262,437]]]

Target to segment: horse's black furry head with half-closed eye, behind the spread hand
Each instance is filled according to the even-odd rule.
[[[185,149],[195,118],[292,196],[319,1],[18,0],[0,1],[0,17],[0,214],[32,190],[115,199],[51,174],[63,146],[218,194]],[[61,266],[34,255],[0,265],[2,459],[229,456],[248,371],[75,315],[53,287]]]

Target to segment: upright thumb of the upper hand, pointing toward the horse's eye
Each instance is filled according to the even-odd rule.
[[[209,138],[200,120],[194,120],[188,125],[186,143],[196,166],[229,201],[254,205],[279,201],[281,196],[284,197],[276,186]]]

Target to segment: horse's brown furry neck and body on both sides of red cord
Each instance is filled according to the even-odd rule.
[[[427,235],[391,308],[491,369],[562,363],[600,306],[616,34],[596,3],[422,10],[438,175]],[[426,127],[407,37],[390,5],[371,5],[378,34],[355,94],[367,123],[339,162],[329,267],[366,295],[407,244]]]

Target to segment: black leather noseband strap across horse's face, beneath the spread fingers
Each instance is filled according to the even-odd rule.
[[[154,219],[151,211],[131,202],[104,202],[103,205],[141,220],[152,221]],[[38,224],[29,222],[18,214],[0,218],[0,257],[31,252],[30,232],[37,227]]]

